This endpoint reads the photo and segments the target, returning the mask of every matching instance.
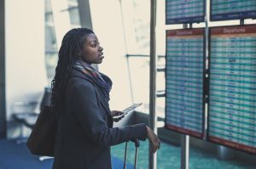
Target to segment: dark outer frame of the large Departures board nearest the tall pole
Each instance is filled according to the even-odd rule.
[[[191,132],[189,132],[188,129],[184,129],[184,128],[180,128],[180,127],[177,127],[177,128],[180,128],[184,131],[188,131],[188,132],[180,132],[180,131],[177,131],[177,130],[174,130],[174,129],[171,129],[168,127],[168,125],[166,124],[166,106],[165,106],[165,128],[167,130],[171,130],[173,132],[179,132],[179,133],[183,133],[183,134],[187,134],[191,137],[195,137],[195,138],[205,138],[206,136],[206,132],[205,132],[205,124],[206,124],[206,107],[205,107],[205,104],[206,104],[206,81],[207,81],[207,78],[206,78],[206,29],[205,28],[189,28],[189,29],[176,29],[176,30],[166,30],[166,56],[167,56],[167,35],[168,35],[168,31],[189,31],[189,30],[203,30],[203,34],[202,34],[202,37],[203,37],[203,71],[202,71],[202,112],[201,112],[201,115],[202,115],[202,126],[201,126],[201,136],[197,136],[197,134],[193,134]],[[167,67],[167,57],[166,57],[166,67]],[[166,87],[167,87],[167,69],[165,70],[165,74],[166,74]],[[166,90],[166,96],[167,96],[167,90]],[[167,105],[167,99],[165,100],[166,102],[166,105]],[[193,131],[192,131],[193,132]]]

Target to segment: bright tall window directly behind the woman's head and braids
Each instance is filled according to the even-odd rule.
[[[72,28],[81,27],[78,1],[61,0],[61,2],[59,4],[52,0],[45,0],[45,66],[49,85],[55,76],[58,48],[60,48],[63,33]]]

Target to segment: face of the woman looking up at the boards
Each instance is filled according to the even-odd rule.
[[[91,33],[85,38],[80,56],[88,64],[101,64],[104,58],[102,51],[103,48],[100,46],[98,38]]]

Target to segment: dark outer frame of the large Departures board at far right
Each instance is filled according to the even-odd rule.
[[[256,155],[256,152],[253,153],[253,152],[250,152],[248,150],[245,150],[245,149],[239,149],[239,148],[236,148],[236,146],[230,146],[229,144],[221,144],[221,143],[218,143],[218,142],[215,142],[215,141],[212,141],[212,139],[210,139],[210,131],[209,131],[209,124],[210,124],[210,97],[211,97],[211,93],[210,93],[210,77],[211,77],[211,32],[212,32],[212,29],[214,28],[229,28],[229,27],[247,27],[247,26],[256,26],[256,24],[250,24],[250,25],[224,25],[224,26],[212,26],[212,27],[209,27],[209,31],[208,31],[208,99],[207,99],[207,142],[210,142],[212,144],[218,144],[218,145],[223,145],[225,147],[229,147],[230,149],[236,149],[236,150],[240,150],[242,152],[245,152],[247,154],[250,154],[250,155]],[[255,31],[256,33],[256,31]],[[226,140],[224,138],[219,138],[219,139],[222,139],[222,140]],[[229,141],[229,140],[226,140],[226,141]],[[235,142],[234,142],[235,143]],[[239,144],[239,143],[235,143],[236,145]],[[240,144],[240,145],[245,145],[245,144]],[[248,146],[248,145],[245,145],[245,146]],[[255,148],[256,149],[256,148]]]

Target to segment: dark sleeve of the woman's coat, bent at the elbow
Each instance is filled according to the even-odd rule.
[[[134,138],[146,139],[147,130],[143,123],[134,126],[108,128],[97,104],[95,87],[90,82],[75,84],[68,97],[70,97],[73,113],[79,126],[91,141],[103,146],[111,146]]]

